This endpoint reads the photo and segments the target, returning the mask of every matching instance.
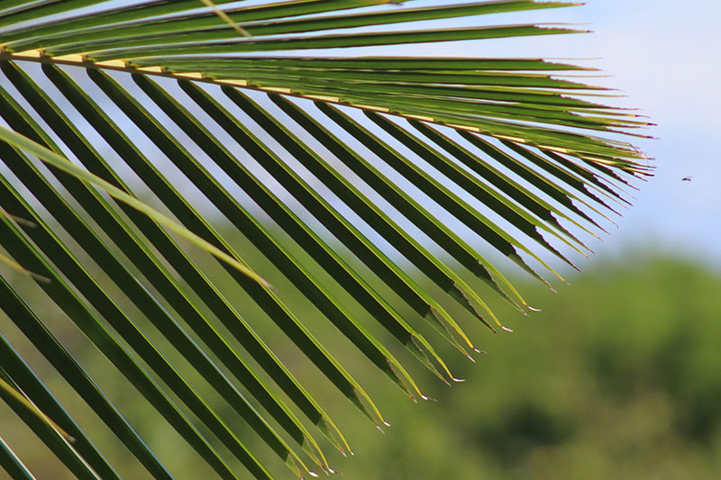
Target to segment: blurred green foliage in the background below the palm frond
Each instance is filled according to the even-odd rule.
[[[514,333],[470,329],[479,348],[488,351],[476,356],[475,365],[450,348],[445,352],[465,383],[449,388],[415,371],[424,393],[437,402],[411,403],[370,367],[355,368],[364,385],[373,385],[371,394],[392,426],[381,434],[349,403],[329,396],[329,412],[355,453],[333,456],[332,466],[346,479],[717,478],[721,275],[671,259],[626,260],[596,262],[558,295],[525,285],[529,303],[543,306],[543,312],[522,317],[499,308]],[[4,334],[7,324],[0,316]],[[62,335],[75,347],[74,332]],[[278,354],[294,365],[292,351]],[[34,367],[52,376],[41,363]],[[151,448],[175,464],[172,471],[180,478],[207,474],[146,404],[114,383],[105,364],[89,368]],[[308,389],[323,396],[323,385],[315,385],[319,377],[304,368],[295,365]],[[50,386],[68,409],[84,412],[62,392],[61,381]],[[118,450],[109,457],[121,473],[141,477],[112,435],[93,425],[92,415],[81,424],[101,448]],[[61,466],[5,406],[0,434],[39,478],[63,477]]]

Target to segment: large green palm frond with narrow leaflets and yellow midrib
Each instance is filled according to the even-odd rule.
[[[579,33],[447,22],[574,4],[245,3],[0,5],[7,253],[0,261],[32,272],[215,475],[235,478],[240,465],[258,478],[278,475],[266,466],[267,452],[256,451],[259,442],[233,428],[228,407],[293,475],[315,475],[333,471],[318,433],[343,453],[349,446],[221,278],[383,425],[370,395],[294,312],[289,294],[258,276],[267,275],[259,254],[360,356],[411,398],[425,399],[404,349],[451,382],[437,340],[472,358],[477,349],[461,323],[502,326],[452,263],[525,312],[530,307],[490,258],[505,257],[549,286],[539,267],[562,280],[549,258],[573,266],[564,250],[586,255],[583,238],[596,238],[600,222],[628,203],[625,189],[651,175],[643,154],[623,140],[642,136],[637,129],[647,123],[599,104],[608,93],[584,83],[588,68],[387,55],[396,45]],[[255,253],[241,255],[186,188]],[[149,195],[157,208],[138,200]],[[208,276],[193,245],[224,260],[227,276]],[[176,475],[23,299],[23,288],[0,273],[8,319],[148,473]],[[452,316],[455,305],[469,318]],[[122,475],[0,340],[4,381],[75,442],[23,412],[39,439],[78,477]],[[11,396],[4,398],[12,403]],[[14,450],[2,447],[0,465],[29,477]]]

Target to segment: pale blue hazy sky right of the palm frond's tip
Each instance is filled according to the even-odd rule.
[[[576,23],[585,35],[462,42],[454,55],[592,58],[584,65],[612,77],[598,85],[623,90],[622,104],[659,124],[659,140],[637,145],[656,158],[613,237],[593,245],[598,257],[633,249],[680,251],[721,268],[721,17],[718,0],[588,0],[587,5],[492,15],[483,23]],[[448,46],[431,46],[447,54]],[[691,177],[683,182],[681,178]]]

